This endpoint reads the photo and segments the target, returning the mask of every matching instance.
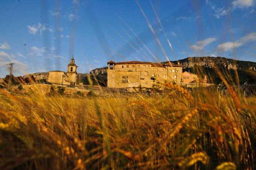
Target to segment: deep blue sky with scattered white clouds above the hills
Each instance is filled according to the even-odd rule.
[[[1,0],[0,77],[109,60],[256,62],[256,0]]]

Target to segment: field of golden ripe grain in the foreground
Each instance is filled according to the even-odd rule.
[[[256,97],[166,84],[163,96],[0,91],[0,169],[254,169]]]

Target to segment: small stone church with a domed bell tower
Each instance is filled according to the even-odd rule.
[[[74,55],[70,63],[68,64],[68,72],[64,71],[49,71],[47,81],[54,84],[60,85],[71,85],[75,86],[77,82],[77,65],[75,64]]]

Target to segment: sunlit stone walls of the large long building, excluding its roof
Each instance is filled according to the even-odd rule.
[[[122,82],[123,76],[128,77],[128,82]],[[175,81],[179,83],[181,76],[182,67],[152,67],[151,64],[118,64],[115,65],[114,69],[108,70],[108,87],[128,88],[129,84],[141,83],[141,86],[150,88],[153,83],[151,77],[156,79],[155,82]]]

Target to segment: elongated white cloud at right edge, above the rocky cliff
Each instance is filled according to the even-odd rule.
[[[220,44],[219,46],[217,46],[217,49],[219,51],[231,51],[233,50],[234,48],[237,48],[237,47],[240,47],[240,46],[243,46],[244,44],[246,44],[247,42],[250,42],[250,41],[255,41],[256,40],[256,32],[252,32],[252,33],[249,33],[247,34],[246,36],[238,39],[237,41],[235,42],[225,42],[223,44]]]

